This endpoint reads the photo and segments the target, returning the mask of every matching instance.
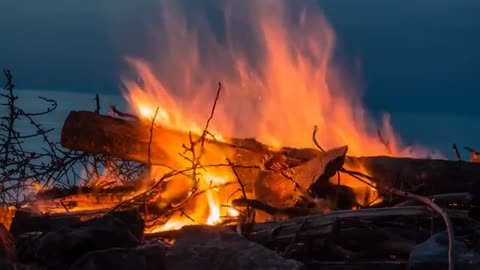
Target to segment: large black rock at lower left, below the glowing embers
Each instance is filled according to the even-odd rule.
[[[143,231],[138,235],[136,226],[132,228],[121,217],[105,215],[52,232],[22,235],[17,239],[20,248],[17,253],[21,262],[36,262],[52,270],[65,269],[91,251],[137,246]]]

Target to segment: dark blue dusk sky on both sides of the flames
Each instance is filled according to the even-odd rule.
[[[199,2],[187,14],[215,21],[217,1]],[[390,112],[407,142],[480,148],[480,1],[316,2],[361,68],[368,110]],[[21,89],[118,93],[124,56],[161,49],[149,39],[157,0],[0,0],[0,11],[0,67]]]

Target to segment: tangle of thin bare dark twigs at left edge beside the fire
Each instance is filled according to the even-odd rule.
[[[13,75],[4,70],[0,92],[0,204],[22,205],[40,190],[54,186],[96,185],[109,179],[129,182],[143,174],[143,165],[112,157],[62,148],[38,119],[57,108],[56,101],[39,97],[43,110],[27,112],[19,105]]]

